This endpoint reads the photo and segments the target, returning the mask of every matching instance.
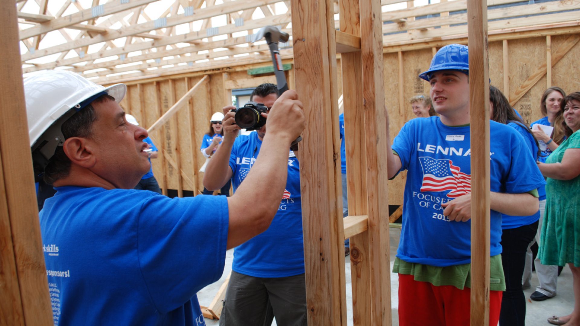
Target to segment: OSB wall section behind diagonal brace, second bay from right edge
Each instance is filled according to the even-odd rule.
[[[507,49],[509,88],[510,93],[513,94],[521,84],[535,73],[539,66],[546,63],[546,38],[514,39],[508,42]],[[541,118],[539,101],[544,90],[546,90],[545,75],[514,105],[527,124]]]

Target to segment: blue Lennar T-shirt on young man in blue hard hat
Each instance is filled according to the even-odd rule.
[[[527,193],[544,184],[530,150],[513,128],[490,121],[491,191]],[[453,266],[471,262],[471,220],[454,222],[441,204],[471,192],[469,126],[439,117],[412,119],[394,139],[407,169],[403,228],[397,257],[409,263]],[[501,213],[491,211],[491,256],[502,252]]]

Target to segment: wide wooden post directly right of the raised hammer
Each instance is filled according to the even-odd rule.
[[[310,126],[299,144],[308,324],[346,325],[333,1],[291,7],[296,92]]]

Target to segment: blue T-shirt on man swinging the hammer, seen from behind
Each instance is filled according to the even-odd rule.
[[[55,325],[205,325],[223,273],[227,198],[57,187],[39,213]]]

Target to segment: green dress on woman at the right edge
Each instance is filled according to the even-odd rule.
[[[580,148],[580,131],[564,140],[546,163],[561,162],[567,148]],[[538,256],[543,265],[574,263],[580,267],[580,176],[572,180],[546,180],[541,238]]]

